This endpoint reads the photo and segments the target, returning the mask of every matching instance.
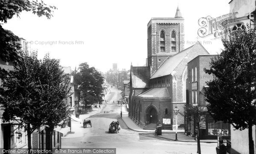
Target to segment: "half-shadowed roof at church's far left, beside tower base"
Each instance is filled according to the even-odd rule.
[[[133,88],[148,88],[150,67],[131,66],[131,80]]]

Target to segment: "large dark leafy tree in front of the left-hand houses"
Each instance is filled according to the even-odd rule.
[[[31,134],[41,126],[50,132],[69,114],[64,99],[69,92],[69,77],[59,67],[59,60],[37,59],[37,53],[21,53],[20,61],[3,80],[0,102],[3,121],[17,121],[24,126],[31,149]]]

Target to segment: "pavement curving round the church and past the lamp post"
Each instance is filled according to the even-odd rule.
[[[127,108],[124,106],[122,107],[122,118],[125,125],[127,125],[128,128],[130,128],[133,131],[138,132],[152,132],[154,133],[155,130],[145,130],[143,128],[140,128],[138,125],[136,125],[133,120],[131,120],[128,117]],[[197,142],[195,140],[195,137],[192,137],[191,135],[186,136],[184,133],[184,130],[177,130],[177,140],[175,140],[176,137],[176,131],[172,130],[162,130],[162,135],[155,135],[155,137],[160,137],[167,140],[173,140],[173,141],[179,141],[179,142]],[[217,140],[200,140],[201,143],[217,143]]]

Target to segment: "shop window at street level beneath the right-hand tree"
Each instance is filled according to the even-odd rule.
[[[208,135],[227,135],[229,134],[229,124],[217,121],[207,115],[207,131]]]

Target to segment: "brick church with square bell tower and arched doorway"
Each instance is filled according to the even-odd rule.
[[[184,18],[177,8],[175,17],[151,18],[148,22],[147,66],[130,73],[129,117],[142,128],[172,130],[173,109],[183,112],[186,104],[187,63],[199,54],[209,54],[201,43],[184,49]],[[177,115],[177,124],[184,117]]]

